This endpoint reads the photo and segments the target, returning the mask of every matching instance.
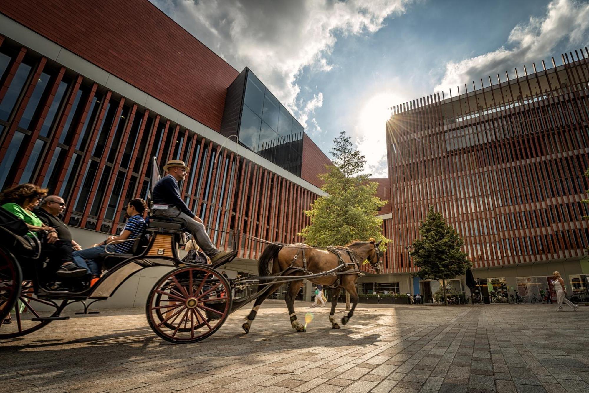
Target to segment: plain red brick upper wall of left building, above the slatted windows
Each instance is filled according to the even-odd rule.
[[[220,130],[239,74],[144,0],[20,0],[0,12],[145,93]]]

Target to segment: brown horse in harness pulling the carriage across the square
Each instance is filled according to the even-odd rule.
[[[382,240],[381,240],[382,241]],[[270,276],[307,276],[309,274],[322,273],[329,271],[338,266],[342,266],[339,270],[344,274],[329,275],[309,279],[313,284],[322,284],[323,286],[332,287],[332,308],[329,313],[329,322],[332,323],[333,329],[339,329],[340,326],[336,323],[333,314],[337,304],[337,297],[342,287],[350,294],[352,300],[352,309],[348,316],[342,317],[342,325],[346,325],[350,317],[354,313],[356,304],[358,304],[358,293],[356,292],[356,280],[358,280],[358,266],[364,260],[368,260],[372,268],[377,274],[380,274],[380,260],[382,258],[382,251],[379,250],[380,241],[375,243],[374,239],[370,241],[352,241],[344,247],[332,247],[331,250],[325,248],[313,248],[303,243],[294,243],[288,245],[270,244],[262,256],[258,260],[258,271],[260,277]],[[346,273],[348,272],[348,273]],[[297,332],[305,332],[305,326],[297,320],[294,312],[294,297],[299,293],[299,289],[303,284],[303,280],[290,281],[289,289],[286,294],[286,306],[289,309],[290,325]],[[260,290],[267,287],[267,284],[261,284]],[[260,309],[260,304],[266,300],[270,294],[274,293],[280,287],[280,283],[272,284],[269,288],[264,290],[264,293],[256,299],[252,311],[246,317],[246,322],[241,325],[243,330],[247,333],[250,331],[252,322],[256,317],[257,311]]]

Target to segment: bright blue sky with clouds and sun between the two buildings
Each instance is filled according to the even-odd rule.
[[[392,106],[589,46],[589,0],[150,1],[250,67],[327,156],[345,131],[376,178]]]

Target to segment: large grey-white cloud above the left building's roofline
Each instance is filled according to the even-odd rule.
[[[306,124],[323,95],[297,100],[303,69],[331,70],[329,55],[338,37],[378,31],[411,0],[151,1],[237,70],[249,66]]]

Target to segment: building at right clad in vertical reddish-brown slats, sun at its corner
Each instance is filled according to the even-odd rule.
[[[426,299],[439,283],[412,278],[409,257],[419,221],[433,206],[465,239],[484,302],[518,290],[533,298],[558,270],[573,296],[586,296],[589,214],[589,53],[562,55],[562,65],[484,89],[460,88],[395,106],[386,122],[392,214],[385,220],[388,274]],[[535,66],[534,66],[535,68]],[[478,84],[478,83],[477,83]],[[479,86],[482,86],[482,80]],[[451,286],[465,291],[464,277]],[[376,287],[375,287],[376,289]]]

